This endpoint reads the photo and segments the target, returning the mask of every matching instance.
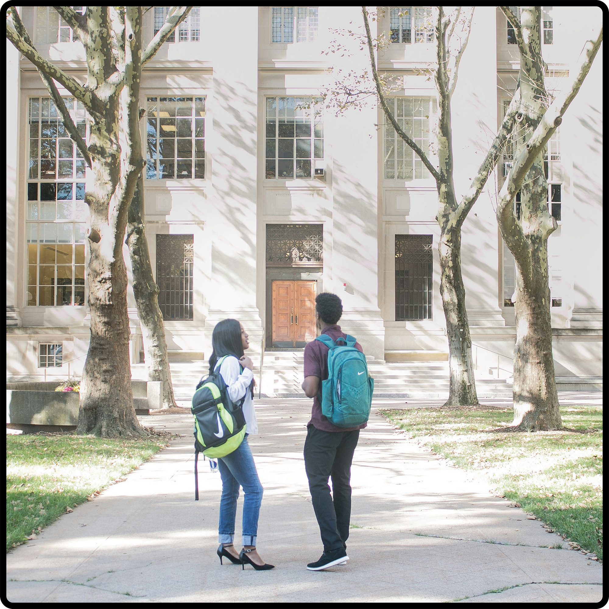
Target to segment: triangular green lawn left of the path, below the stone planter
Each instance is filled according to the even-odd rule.
[[[65,434],[6,437],[6,549],[133,471],[169,434],[118,440]]]

